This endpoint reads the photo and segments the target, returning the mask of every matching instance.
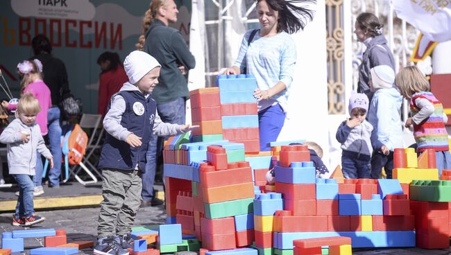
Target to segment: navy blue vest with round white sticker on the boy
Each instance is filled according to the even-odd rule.
[[[152,96],[144,95],[140,91],[120,91],[126,101],[126,110],[122,114],[121,125],[138,137],[142,137],[142,145],[132,148],[125,141],[119,141],[106,133],[103,144],[99,168],[113,168],[120,170],[134,170],[139,164],[142,173],[146,170],[146,152],[148,141],[153,134],[153,123],[155,121],[156,103]],[[137,106],[144,106],[144,114],[138,115]],[[135,105],[136,104],[136,105]],[[135,109],[133,107],[135,105]]]

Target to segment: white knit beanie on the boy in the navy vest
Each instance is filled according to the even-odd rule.
[[[124,60],[124,69],[131,84],[137,83],[155,67],[161,67],[160,63],[144,51],[132,51]]]

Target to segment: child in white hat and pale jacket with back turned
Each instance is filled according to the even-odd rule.
[[[393,150],[404,148],[400,117],[402,96],[398,89],[393,87],[395,72],[391,67],[387,65],[376,66],[370,70],[370,73],[370,89],[374,92],[374,96],[368,111],[368,121],[375,128],[377,140],[384,144],[385,149],[381,150],[373,145],[371,178],[379,179],[382,168],[384,168],[386,177],[391,179]]]

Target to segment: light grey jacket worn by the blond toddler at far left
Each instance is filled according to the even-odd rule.
[[[30,141],[23,143],[19,132],[30,134]],[[20,118],[16,118],[3,130],[0,135],[0,143],[5,143],[8,149],[10,175],[35,175],[36,151],[47,159],[51,157],[50,150],[45,146],[39,125],[36,123],[31,126],[25,125]]]

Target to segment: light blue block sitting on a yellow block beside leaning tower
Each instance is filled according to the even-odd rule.
[[[255,195],[254,215],[273,216],[275,211],[283,210],[283,201],[281,193],[264,193]]]

